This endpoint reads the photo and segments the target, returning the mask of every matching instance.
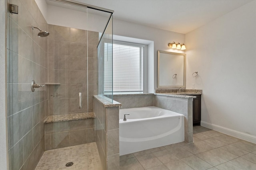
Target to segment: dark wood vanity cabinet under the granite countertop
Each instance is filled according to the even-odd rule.
[[[200,125],[201,121],[201,95],[191,95],[196,96],[193,98],[193,125]]]

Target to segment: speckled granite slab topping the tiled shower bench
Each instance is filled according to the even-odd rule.
[[[74,114],[69,114],[69,115],[53,115],[53,116],[48,116],[47,119],[44,121],[44,123],[91,119],[91,118],[95,118],[94,112],[74,113]]]

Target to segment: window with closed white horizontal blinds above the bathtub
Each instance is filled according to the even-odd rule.
[[[107,47],[108,43],[105,43]],[[143,47],[141,44],[113,42],[113,92],[143,92]],[[110,76],[105,69],[104,92],[112,90]]]

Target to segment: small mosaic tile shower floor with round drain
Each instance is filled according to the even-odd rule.
[[[73,162],[70,167],[66,163]],[[36,166],[36,170],[99,170],[100,156],[96,143],[47,150]]]

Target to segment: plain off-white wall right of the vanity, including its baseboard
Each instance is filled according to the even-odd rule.
[[[202,89],[201,125],[256,143],[256,1],[186,34],[186,86]],[[238,48],[238,44],[244,48]],[[192,77],[192,72],[198,76]]]

